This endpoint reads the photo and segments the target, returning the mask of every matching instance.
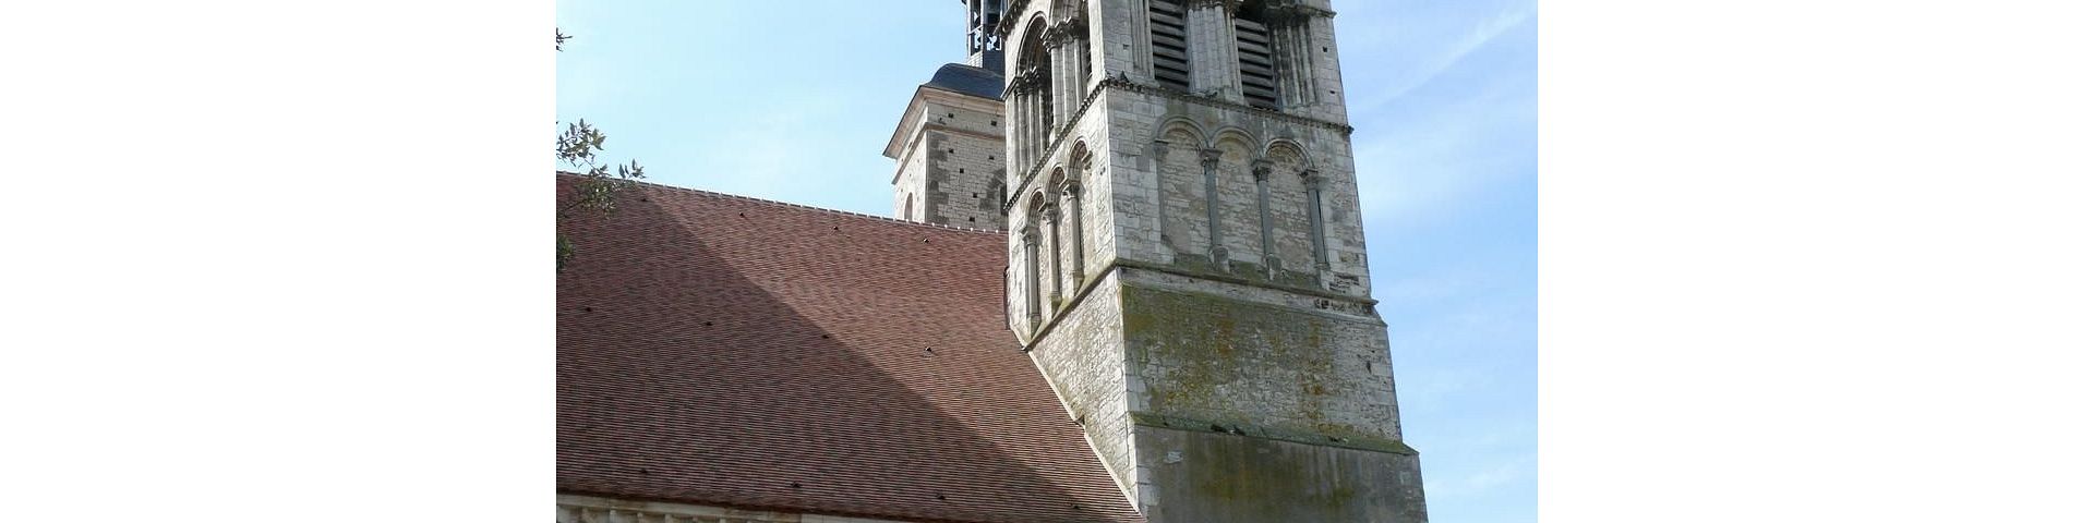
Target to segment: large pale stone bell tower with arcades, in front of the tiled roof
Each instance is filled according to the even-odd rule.
[[[1330,0],[1011,0],[1009,326],[1150,521],[1426,521]]]

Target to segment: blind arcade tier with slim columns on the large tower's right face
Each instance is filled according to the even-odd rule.
[[[1275,119],[1242,107],[1108,88],[1116,255],[1185,270],[1365,299],[1367,249],[1351,138],[1330,123]],[[1229,264],[1217,266],[1206,224],[1202,151],[1219,153],[1215,182]],[[1269,161],[1267,211],[1277,266],[1263,259],[1252,161]],[[1311,238],[1305,172],[1321,182],[1323,262]]]

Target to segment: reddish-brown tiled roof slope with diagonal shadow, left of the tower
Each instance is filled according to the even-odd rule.
[[[563,228],[561,492],[1141,521],[1003,326],[1001,234],[658,184]]]

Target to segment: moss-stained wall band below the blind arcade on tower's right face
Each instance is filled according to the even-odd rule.
[[[1399,441],[1386,326],[1246,299],[1233,285],[1122,272],[1133,412]]]

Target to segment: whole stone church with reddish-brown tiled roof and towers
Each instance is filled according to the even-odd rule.
[[[557,519],[1424,523],[1330,0],[963,4],[892,218],[561,224]]]

